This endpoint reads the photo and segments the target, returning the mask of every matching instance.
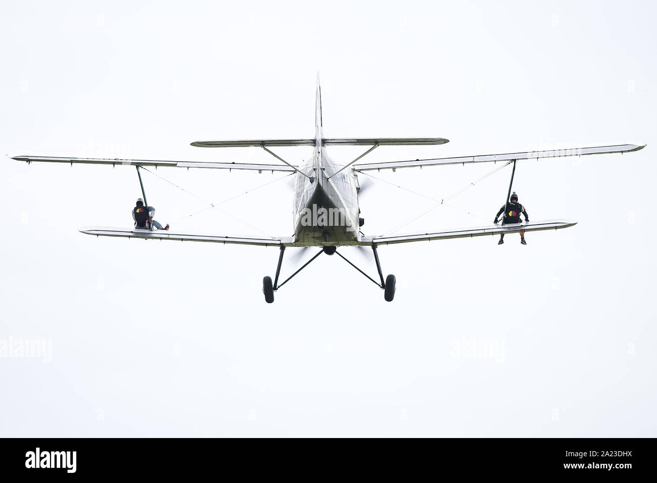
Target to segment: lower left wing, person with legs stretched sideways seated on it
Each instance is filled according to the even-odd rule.
[[[215,243],[233,243],[240,245],[281,246],[293,242],[292,237],[281,238],[250,238],[250,237],[215,237],[213,235],[186,235],[182,233],[170,233],[164,230],[140,230],[116,227],[84,227],[81,233],[96,235],[98,237],[124,237],[143,238],[147,240],[174,240],[174,241],[200,241]]]

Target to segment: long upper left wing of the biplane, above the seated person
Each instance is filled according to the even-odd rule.
[[[284,164],[220,163],[202,161],[156,161],[143,159],[105,159],[105,158],[54,158],[51,156],[14,156],[16,161],[55,162],[70,164],[109,164],[111,166],[171,166],[173,168],[215,168],[222,170],[258,170],[294,172],[294,168]]]

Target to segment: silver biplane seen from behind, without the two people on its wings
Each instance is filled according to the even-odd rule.
[[[378,258],[377,248],[381,245],[410,243],[419,241],[435,241],[455,238],[482,237],[485,235],[500,235],[502,233],[518,233],[520,231],[556,230],[572,227],[577,222],[572,219],[548,219],[524,223],[509,223],[497,225],[491,222],[489,226],[454,229],[450,231],[415,233],[410,235],[372,236],[361,231],[364,219],[360,216],[358,196],[360,185],[359,173],[381,170],[397,170],[401,168],[426,168],[430,166],[446,166],[451,164],[505,163],[512,164],[512,174],[509,183],[509,195],[513,183],[516,162],[521,160],[537,160],[542,158],[560,158],[564,156],[585,156],[591,154],[624,153],[643,149],[645,145],[613,145],[576,149],[541,150],[532,152],[512,152],[507,154],[486,154],[480,156],[459,156],[453,158],[416,159],[388,162],[363,162],[364,156],[374,149],[390,145],[442,145],[447,143],[442,137],[426,138],[327,138],[324,137],[322,123],[321,88],[319,75],[315,93],[315,137],[309,139],[258,139],[245,141],[196,141],[192,146],[204,148],[222,147],[259,147],[277,159],[276,164],[234,163],[234,162],[199,162],[199,161],[157,161],[157,160],[127,160],[102,158],[65,158],[51,156],[16,156],[13,159],[32,162],[58,162],[73,164],[103,164],[108,166],[135,166],[139,181],[144,191],[140,169],[155,166],[156,168],[204,168],[212,170],[249,170],[256,172],[286,172],[294,175],[294,233],[292,236],[277,238],[237,237],[229,235],[194,235],[189,233],[170,233],[164,230],[130,229],[116,227],[84,227],[81,233],[102,237],[127,237],[140,239],[159,239],[193,242],[216,242],[222,244],[244,244],[252,246],[276,246],[279,248],[279,258],[274,279],[263,278],[265,301],[274,301],[274,292],[283,287],[292,277],[307,267],[321,254],[338,254],[351,266],[365,275],[370,281],[384,291],[384,298],[391,302],[395,295],[396,279],[394,275],[384,278]],[[313,154],[306,162],[295,165],[284,160],[273,152],[276,147],[302,146],[311,147]],[[367,150],[360,156],[340,165],[328,156],[328,148],[334,146],[365,146]],[[507,200],[509,200],[507,195]],[[506,202],[505,201],[505,202]],[[145,203],[148,206],[147,203]],[[338,252],[342,246],[371,247],[374,263],[378,273],[378,281],[367,275],[355,264]],[[317,247],[319,252],[302,265],[290,277],[279,283],[283,254],[288,247]]]

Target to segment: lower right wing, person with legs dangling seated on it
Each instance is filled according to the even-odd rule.
[[[576,225],[574,219],[548,219],[545,221],[534,221],[533,223],[509,223],[509,225],[497,225],[495,227],[463,228],[451,231],[439,231],[437,233],[420,233],[417,235],[397,235],[395,237],[363,237],[361,244],[394,244],[415,241],[445,240],[449,238],[471,238],[484,235],[499,235],[500,233],[518,233],[520,231],[558,230]]]

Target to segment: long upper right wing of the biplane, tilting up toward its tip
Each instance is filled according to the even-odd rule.
[[[443,164],[470,164],[498,162],[521,159],[562,158],[564,156],[584,156],[586,154],[609,154],[612,152],[631,152],[645,148],[645,145],[617,145],[593,148],[553,149],[547,151],[510,152],[507,154],[484,154],[482,156],[459,156],[457,158],[417,159],[409,161],[389,161],[378,163],[354,164],[355,171],[390,170],[396,168],[413,168],[419,166],[438,166]]]

